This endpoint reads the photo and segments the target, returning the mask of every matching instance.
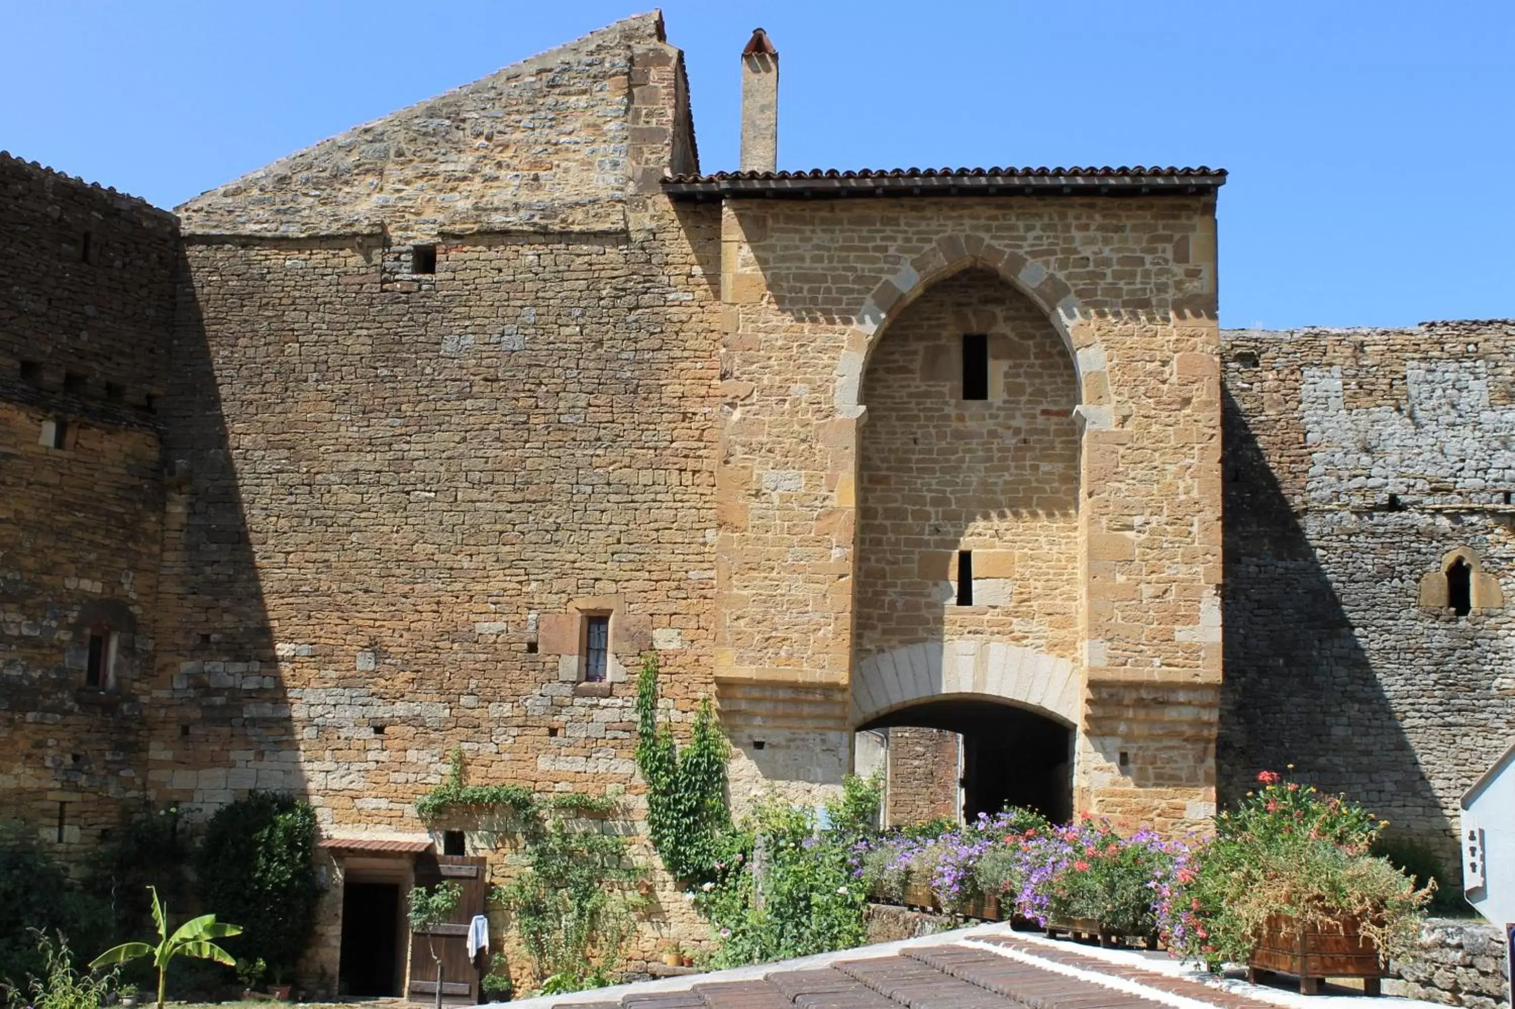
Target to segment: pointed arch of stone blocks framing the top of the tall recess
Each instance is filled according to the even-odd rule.
[[[1073,358],[1080,389],[1106,389],[1107,383],[1095,379],[1104,373],[1104,348],[1083,326],[1085,312],[1067,280],[1051,273],[1044,264],[1027,259],[1021,253],[992,244],[983,235],[942,235],[921,255],[900,267],[894,276],[874,286],[853,315],[854,339],[848,347],[861,345],[861,353],[848,350],[836,365],[836,409],[854,411],[861,405],[862,376],[868,358],[888,329],[889,323],[911,306],[938,280],[970,268],[991,270],[1007,285],[1036,305],[1057,330],[1064,347]],[[1089,406],[1107,406],[1103,394]]]

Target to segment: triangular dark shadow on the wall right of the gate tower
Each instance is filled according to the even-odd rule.
[[[1226,679],[1218,800],[1260,770],[1385,814],[1413,811],[1417,835],[1456,871],[1453,826],[1241,406],[1224,392]],[[1392,820],[1392,817],[1391,817]],[[1448,857],[1450,856],[1450,857]]]

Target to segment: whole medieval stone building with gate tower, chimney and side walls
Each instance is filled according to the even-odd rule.
[[[974,809],[1183,832],[1292,761],[1451,844],[1515,715],[1512,324],[1223,333],[1223,171],[776,171],[741,73],[729,173],[656,14],[173,215],[0,159],[8,815],[297,792],[338,976],[344,891],[504,871],[417,818],[453,748],[635,824],[651,651],[738,804],[888,729]],[[701,929],[658,900],[633,957]]]

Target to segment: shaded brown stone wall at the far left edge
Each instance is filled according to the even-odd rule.
[[[145,785],[177,227],[0,155],[0,820],[76,856]]]

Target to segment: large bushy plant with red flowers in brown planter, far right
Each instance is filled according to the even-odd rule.
[[[1159,888],[1170,947],[1210,970],[1292,974],[1304,994],[1324,977],[1376,992],[1382,961],[1415,948],[1435,883],[1370,853],[1388,821],[1362,806],[1276,771],[1257,782]]]

